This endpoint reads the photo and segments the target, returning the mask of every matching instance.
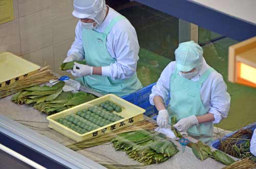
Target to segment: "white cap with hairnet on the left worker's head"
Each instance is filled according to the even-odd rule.
[[[100,24],[106,14],[105,0],[74,0],[72,14],[79,18],[89,18]]]

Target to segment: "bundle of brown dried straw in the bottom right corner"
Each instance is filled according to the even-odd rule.
[[[253,161],[247,157],[245,159],[234,162],[231,165],[225,166],[222,169],[255,169],[255,168],[256,168],[256,161]]]

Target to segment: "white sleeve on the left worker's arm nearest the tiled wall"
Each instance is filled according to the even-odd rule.
[[[68,56],[75,55],[82,60],[84,58],[84,51],[82,46],[82,27],[80,24],[80,20],[77,22],[76,30],[75,30],[75,41],[71,45],[71,49],[68,51]]]

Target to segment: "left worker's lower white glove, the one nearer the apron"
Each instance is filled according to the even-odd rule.
[[[86,64],[79,64],[74,62],[74,66],[73,66],[73,70],[71,70],[71,74],[76,78],[93,75],[93,67],[88,66]]]

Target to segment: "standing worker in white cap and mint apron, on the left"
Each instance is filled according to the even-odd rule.
[[[75,80],[101,94],[123,96],[142,88],[136,74],[139,43],[129,20],[105,0],[74,0],[72,14],[79,21],[63,62],[86,60],[69,70]]]

